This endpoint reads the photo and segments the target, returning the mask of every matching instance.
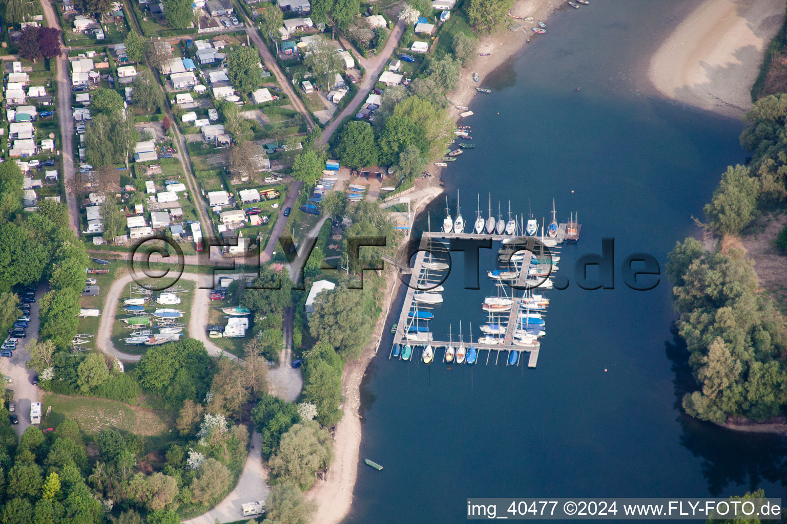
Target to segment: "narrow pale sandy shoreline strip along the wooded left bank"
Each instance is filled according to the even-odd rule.
[[[456,105],[467,105],[472,97],[484,96],[475,91],[475,87],[483,82],[483,77],[495,68],[504,64],[515,53],[519,52],[523,46],[527,45],[527,38],[545,38],[547,35],[536,35],[530,31],[535,27],[537,21],[546,21],[562,2],[556,0],[520,0],[516,2],[510,13],[514,16],[533,16],[534,20],[526,22],[524,20],[510,19],[522,27],[518,31],[508,31],[503,28],[494,35],[482,38],[478,44],[478,53],[490,53],[488,57],[476,57],[474,64],[464,68],[459,86],[451,93],[449,99]],[[549,31],[549,30],[548,30]],[[481,75],[481,82],[473,82],[472,71]],[[455,107],[449,108],[450,114],[454,119],[459,118],[459,111]],[[429,165],[426,167],[432,173],[437,173],[439,177],[440,169]],[[427,182],[432,185],[434,182]],[[417,212],[423,210],[430,200],[426,199],[419,202]],[[342,394],[345,401],[342,403],[344,416],[336,425],[334,432],[334,462],[328,468],[327,479],[317,482],[309,491],[309,497],[317,504],[317,511],[312,518],[315,524],[338,524],[350,510],[353,504],[353,489],[358,472],[358,461],[360,453],[360,383],[366,374],[366,368],[375,357],[379,337],[385,328],[386,318],[390,308],[391,299],[396,295],[401,281],[395,276],[393,271],[386,275],[386,289],[390,289],[390,295],[386,296],[386,302],[379,321],[375,325],[375,333],[372,335],[371,342],[365,349],[358,361],[345,368],[342,376]]]

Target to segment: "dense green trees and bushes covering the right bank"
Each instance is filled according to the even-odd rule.
[[[667,274],[678,332],[685,339],[696,390],[683,407],[718,423],[784,421],[787,415],[787,322],[760,287],[736,236],[787,203],[787,94],[756,101],[741,134],[751,157],[728,167],[705,206],[706,229],[721,237],[715,252],[693,238],[670,253]],[[773,239],[787,238],[787,229]]]

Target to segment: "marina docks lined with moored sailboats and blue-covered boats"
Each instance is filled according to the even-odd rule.
[[[399,321],[393,332],[393,346],[389,358],[409,361],[416,357],[425,364],[440,358],[446,364],[473,365],[482,361],[486,351],[485,364],[494,357],[495,365],[503,359],[505,365],[519,366],[527,353],[527,366],[535,368],[541,349],[540,339],[545,335],[545,311],[549,305],[542,293],[552,288],[552,277],[559,269],[559,246],[563,241],[579,240],[582,225],[575,216],[565,223],[557,223],[552,211],[552,223],[542,226],[541,235],[538,224],[532,219],[527,222],[511,218],[503,222],[498,209],[498,220],[490,214],[486,220],[479,209],[475,224],[465,224],[458,205],[456,222],[451,217],[448,204],[446,217],[439,231],[429,229],[422,233],[419,251],[416,252],[412,269],[400,269],[410,273],[410,281],[405,294],[405,302]],[[431,221],[429,221],[430,224]],[[527,225],[526,225],[527,224]],[[449,269],[449,242],[453,239],[492,240],[500,242],[497,259],[501,267],[486,271],[486,277],[496,284],[497,296],[486,297],[482,302],[482,313],[486,319],[475,329],[470,323],[459,329],[453,324],[449,327],[449,340],[436,340],[428,327],[434,318],[435,306],[442,302],[442,282]],[[485,269],[481,268],[482,273]],[[457,319],[459,320],[459,319]],[[393,327],[392,327],[393,328]],[[473,333],[480,336],[474,339]],[[465,340],[468,338],[469,342]],[[417,355],[420,350],[420,355]]]

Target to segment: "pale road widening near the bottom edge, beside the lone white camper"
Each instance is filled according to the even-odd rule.
[[[215,522],[243,520],[241,504],[268,498],[268,486],[265,484],[265,481],[268,479],[268,472],[265,471],[262,465],[262,456],[260,455],[261,441],[262,438],[259,433],[252,434],[252,449],[249,450],[249,455],[246,456],[246,464],[243,466],[241,478],[238,479],[238,485],[235,486],[235,489],[227,497],[224,497],[224,500],[216,508],[204,515],[194,517],[194,519],[183,521],[184,524],[214,524]]]

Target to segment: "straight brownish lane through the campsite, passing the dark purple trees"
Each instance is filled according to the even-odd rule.
[[[62,30],[50,0],[42,0],[41,5],[44,9],[46,25]],[[71,213],[70,227],[79,233],[79,208],[76,207],[75,194],[74,141],[72,140],[74,119],[71,113],[71,81],[68,79],[68,48],[65,47],[65,42],[61,42],[61,47],[63,49],[61,56],[52,59],[57,63],[57,119],[60,122],[61,156],[63,159],[61,175],[65,181],[65,200],[68,203],[68,212]]]

